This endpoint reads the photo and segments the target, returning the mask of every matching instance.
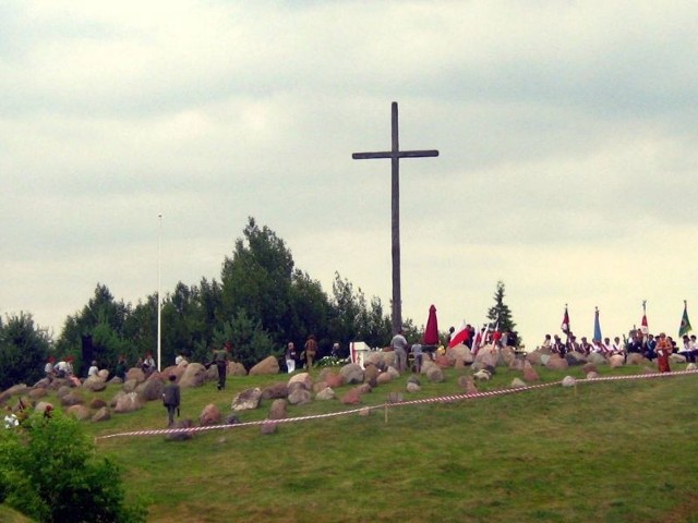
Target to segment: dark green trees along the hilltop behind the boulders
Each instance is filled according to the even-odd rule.
[[[497,282],[495,306],[489,312],[500,327],[514,328],[503,303],[504,283]],[[206,362],[213,346],[231,342],[233,358],[250,368],[268,355],[280,356],[289,341],[302,346],[310,335],[320,344],[321,356],[334,342],[345,354],[351,341],[385,346],[392,338],[388,312],[378,297],[366,300],[338,272],[328,295],[317,280],[296,267],[284,240],[249,218],[242,238],[222,262],[220,281],[202,278],[198,284],[178,282],[163,297],[161,366],[182,354],[189,361]],[[404,330],[410,341],[421,339],[411,319]],[[98,283],[81,311],[65,319],[55,343],[38,329],[31,315],[0,319],[0,388],[34,382],[43,375],[49,354],[72,355],[81,375],[83,346],[93,348],[101,368],[113,370],[120,355],[129,365],[151,352],[157,356],[157,294],[135,305],[117,300]]]

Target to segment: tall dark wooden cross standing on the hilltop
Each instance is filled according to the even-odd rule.
[[[354,153],[354,160],[371,158],[390,158],[393,165],[392,181],[392,215],[393,215],[393,332],[402,329],[402,297],[400,291],[400,158],[423,158],[438,156],[438,150],[400,150],[397,124],[397,101],[393,102],[392,111],[393,147],[382,153]]]

